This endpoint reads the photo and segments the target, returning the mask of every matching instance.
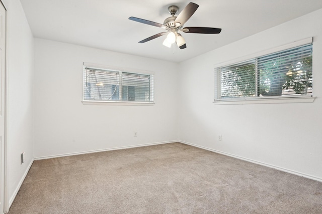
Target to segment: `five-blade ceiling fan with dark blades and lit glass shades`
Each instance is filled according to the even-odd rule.
[[[151,25],[155,27],[159,27],[167,30],[167,32],[158,33],[151,37],[148,37],[139,43],[145,43],[160,36],[166,35],[163,45],[167,47],[171,47],[172,44],[177,43],[180,49],[187,48],[185,39],[179,34],[179,31],[184,33],[193,33],[193,34],[219,34],[221,32],[221,28],[205,28],[205,27],[183,27],[183,25],[190,19],[190,17],[196,12],[199,5],[195,3],[189,3],[182,12],[175,17],[175,14],[178,13],[179,8],[177,6],[170,6],[168,8],[169,13],[172,15],[164,21],[164,24],[155,23],[148,20],[143,20],[136,17],[130,17],[129,20],[143,23],[146,25]]]

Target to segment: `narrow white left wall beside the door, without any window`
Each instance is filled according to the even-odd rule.
[[[19,0],[9,1],[7,23],[7,185],[11,203],[33,160],[34,39]]]

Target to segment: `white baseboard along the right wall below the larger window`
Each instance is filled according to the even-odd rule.
[[[312,176],[312,175],[309,175],[309,174],[301,173],[301,172],[298,172],[298,171],[286,169],[286,168],[279,167],[279,166],[270,165],[270,164],[263,163],[263,162],[260,162],[260,161],[257,161],[257,160],[252,160],[252,159],[249,159],[249,158],[240,157],[240,156],[237,156],[237,155],[229,154],[229,153],[226,153],[226,152],[218,151],[218,150],[215,150],[215,149],[207,148],[207,147],[204,147],[204,146],[196,145],[196,144],[181,141],[181,140],[179,140],[178,142],[184,143],[184,144],[187,144],[187,145],[191,145],[191,146],[194,146],[194,147],[198,147],[198,148],[201,148],[201,149],[205,149],[205,150],[208,150],[208,151],[212,151],[212,152],[215,152],[215,153],[218,153],[218,154],[223,154],[223,155],[226,155],[226,156],[229,156],[229,157],[237,158],[237,159],[240,159],[240,160],[245,160],[245,161],[248,161],[248,162],[256,163],[256,164],[259,164],[259,165],[262,165],[262,166],[267,166],[269,168],[274,168],[274,169],[277,169],[277,170],[280,170],[280,171],[288,172],[288,173],[291,173],[291,174],[299,175],[299,176],[302,176],[302,177],[306,177],[306,178],[309,178],[309,179],[312,179],[312,180],[317,180],[317,181],[322,182],[322,178],[320,178],[320,177],[315,177],[315,176]]]

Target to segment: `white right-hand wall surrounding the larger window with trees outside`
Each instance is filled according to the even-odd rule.
[[[179,139],[322,181],[321,20],[318,10],[181,63]],[[213,104],[215,64],[308,37],[313,37],[313,103]]]

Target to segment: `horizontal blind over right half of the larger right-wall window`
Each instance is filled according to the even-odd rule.
[[[258,58],[259,95],[312,93],[312,45],[303,45]]]

